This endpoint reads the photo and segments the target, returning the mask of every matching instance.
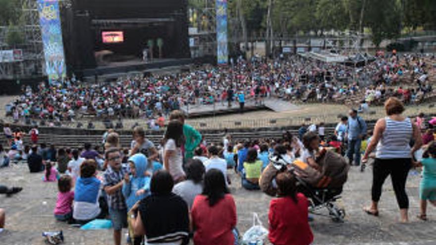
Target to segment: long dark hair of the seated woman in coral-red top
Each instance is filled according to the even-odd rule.
[[[209,170],[204,179],[204,189],[202,195],[207,196],[209,206],[214,206],[218,201],[224,198],[229,191],[225,185],[224,175],[218,169]]]

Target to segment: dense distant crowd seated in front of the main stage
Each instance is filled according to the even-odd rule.
[[[85,84],[71,79],[51,86],[41,83],[37,89],[23,87],[21,96],[6,106],[6,114],[15,122],[37,124],[38,119],[40,125],[49,126],[60,126],[79,115],[141,117],[153,119],[151,127],[159,128],[164,116],[187,104],[232,106],[238,101],[243,108],[246,99],[257,104],[270,96],[337,103],[356,96],[356,102],[368,104],[396,96],[406,103],[420,102],[433,90],[429,72],[435,70],[434,60],[434,56],[394,53],[355,68],[291,55],[250,62],[238,59],[231,66],[120,78],[114,83]],[[400,82],[404,88],[393,87]]]

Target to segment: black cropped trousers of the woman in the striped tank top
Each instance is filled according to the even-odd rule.
[[[409,197],[406,194],[406,180],[411,167],[412,159],[410,158],[376,158],[373,168],[373,201],[378,202],[380,200],[384,180],[390,175],[398,206],[400,209],[409,208]]]

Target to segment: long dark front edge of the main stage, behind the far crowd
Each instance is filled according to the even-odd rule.
[[[193,64],[194,60],[191,58],[181,59],[155,59],[153,62],[145,63],[142,60],[130,60],[125,62],[111,62],[106,65],[98,66],[94,69],[83,70],[83,77],[86,79],[93,79],[95,76],[113,76],[119,74],[126,74],[129,72],[150,72],[156,69],[163,69],[167,67],[182,67]]]

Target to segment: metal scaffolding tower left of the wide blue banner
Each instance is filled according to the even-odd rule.
[[[44,52],[37,0],[22,0],[22,15],[17,30],[0,26],[0,50],[21,49],[22,59],[0,62],[0,79],[23,79],[44,75]],[[8,31],[23,33],[22,44],[9,46],[6,42]]]

